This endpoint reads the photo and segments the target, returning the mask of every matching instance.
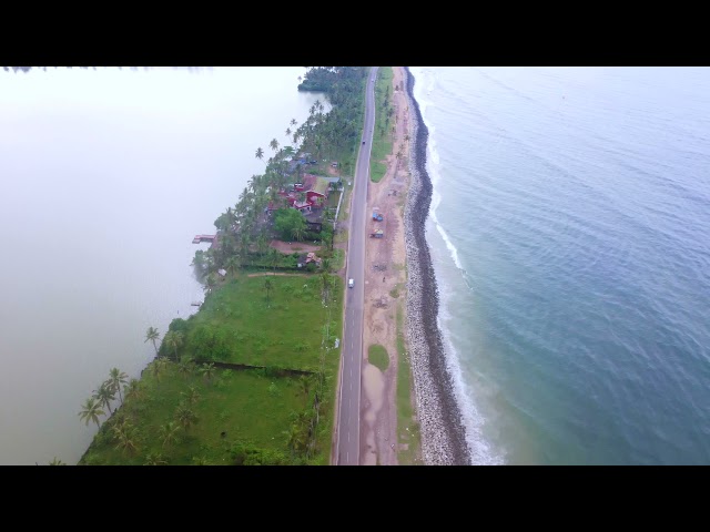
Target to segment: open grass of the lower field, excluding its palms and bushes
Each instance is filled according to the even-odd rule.
[[[308,401],[298,379],[270,378],[258,370],[217,370],[206,381],[194,371],[180,375],[178,365],[170,362],[158,378],[149,367],[141,383],[143,396],[126,400],[120,411],[135,428],[136,450],[116,449],[111,427],[119,415],[114,415],[80,463],[143,464],[149,454],[162,454],[169,464],[229,464],[233,461],[229,450],[237,440],[288,457],[283,432],[291,426],[292,412],[303,410]],[[190,387],[200,395],[191,407],[196,421],[178,431],[179,442],[163,446],[160,428],[174,420]]]

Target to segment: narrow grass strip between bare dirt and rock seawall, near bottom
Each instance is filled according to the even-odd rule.
[[[397,452],[397,460],[403,466],[414,466],[419,448],[419,426],[414,420],[412,406],[412,369],[404,344],[403,304],[397,305],[397,432],[398,443],[406,444],[407,450]],[[407,430],[408,429],[408,430]]]

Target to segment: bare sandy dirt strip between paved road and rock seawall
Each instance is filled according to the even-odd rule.
[[[365,361],[363,366],[363,426],[361,463],[397,464],[397,328],[396,307],[404,311],[405,243],[404,198],[409,185],[409,146],[405,92],[398,90],[404,68],[394,66],[393,105],[396,133],[393,154],[387,156],[387,172],[379,183],[369,183],[367,215],[377,209],[382,222],[369,221],[368,233],[376,228],[384,238],[369,238],[365,254]],[[395,90],[395,86],[397,88]],[[396,153],[402,151],[397,160]],[[368,346],[379,344],[387,349],[389,366],[383,372],[367,361]]]

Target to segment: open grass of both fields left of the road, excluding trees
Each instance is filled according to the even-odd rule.
[[[151,362],[141,377],[142,397],[126,398],[120,413],[102,426],[80,463],[142,464],[149,456],[161,454],[171,464],[230,464],[246,460],[244,457],[251,457],[253,463],[294,463],[294,456],[301,460],[296,463],[327,464],[339,357],[339,349],[333,345],[341,336],[343,297],[342,280],[331,278],[335,285],[329,308],[323,306],[317,276],[242,275],[213,291],[200,313],[186,321],[185,337],[204,326],[217,328],[231,349],[225,361],[266,368],[216,369],[207,380],[197,371],[199,366],[181,372],[179,364],[166,361],[155,375],[156,362]],[[270,300],[265,279],[273,283]],[[324,338],[326,350],[322,349]],[[195,354],[185,347],[181,355]],[[272,369],[275,367],[314,374],[280,376]],[[163,446],[160,428],[175,420],[191,387],[199,396],[190,406],[196,421],[179,430],[179,442]],[[316,391],[321,415],[315,451],[306,456],[304,442],[313,441],[306,434]],[[133,427],[130,439],[135,450],[118,448],[113,427],[122,417]],[[291,451],[294,441],[301,446],[296,454]],[[241,451],[231,452],[234,446],[241,446]]]

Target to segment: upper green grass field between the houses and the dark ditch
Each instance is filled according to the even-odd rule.
[[[342,305],[343,285],[337,276],[333,301]],[[265,284],[270,283],[268,293]],[[204,345],[204,338],[217,338],[223,346],[215,360],[251,366],[268,366],[315,371],[321,355],[322,327],[326,320],[317,275],[288,277],[241,275],[210,294],[197,314],[187,320],[185,347],[181,356],[207,356],[192,346]],[[334,313],[331,330],[342,329],[339,313]],[[328,347],[332,347],[331,344]],[[339,349],[328,352],[337,366]]]

